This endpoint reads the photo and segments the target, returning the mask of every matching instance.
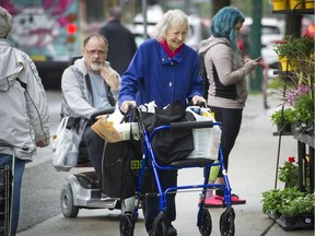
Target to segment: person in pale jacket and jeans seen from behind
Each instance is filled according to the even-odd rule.
[[[19,224],[20,193],[25,163],[32,161],[32,156],[36,154],[36,146],[44,148],[49,144],[50,131],[48,104],[42,80],[32,59],[7,39],[11,30],[12,15],[0,7],[0,168],[9,166],[11,170],[14,169],[10,228],[13,236]],[[0,184],[3,180],[1,177],[3,176],[0,176]],[[1,187],[0,199],[3,198]],[[2,229],[3,206],[0,200]],[[0,235],[3,233],[0,229]]]

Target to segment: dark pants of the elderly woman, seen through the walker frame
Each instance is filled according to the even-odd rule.
[[[177,186],[177,170],[161,170],[159,169],[160,182],[162,190],[165,191],[171,186]],[[154,185],[152,182],[152,185]],[[159,197],[148,196],[145,198],[147,214],[145,217],[145,228],[149,233],[152,231],[153,221],[158,216],[159,210]],[[167,194],[167,205],[166,205],[167,220],[171,222],[176,219],[176,206],[175,206],[175,193]]]

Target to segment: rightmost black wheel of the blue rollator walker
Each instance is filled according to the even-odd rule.
[[[222,236],[234,236],[235,234],[235,212],[228,206],[220,217],[220,233]]]

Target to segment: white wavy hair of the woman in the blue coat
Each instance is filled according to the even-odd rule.
[[[185,24],[187,28],[187,36],[186,36],[187,39],[189,35],[188,16],[178,9],[168,10],[166,13],[163,14],[162,20],[156,23],[155,28],[151,34],[151,37],[160,40],[165,37],[166,31],[170,28],[171,25],[178,25],[178,24]]]

